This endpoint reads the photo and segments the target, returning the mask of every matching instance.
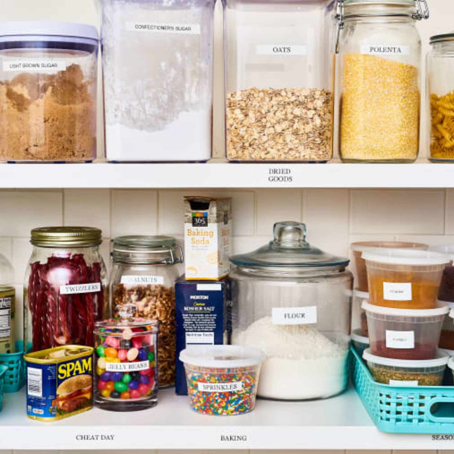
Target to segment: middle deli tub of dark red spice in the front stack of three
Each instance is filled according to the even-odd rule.
[[[448,306],[439,303],[435,309],[393,309],[363,303],[362,307],[367,314],[372,355],[400,360],[435,357]]]

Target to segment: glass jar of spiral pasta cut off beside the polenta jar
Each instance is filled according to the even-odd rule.
[[[430,38],[427,95],[430,109],[430,160],[454,161],[454,33]]]

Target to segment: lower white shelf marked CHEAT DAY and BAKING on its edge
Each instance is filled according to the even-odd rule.
[[[27,418],[24,390],[5,394],[0,449],[452,449],[432,435],[384,434],[375,428],[355,390],[326,400],[257,400],[231,417],[199,415],[186,396],[159,393],[150,410],[93,409],[60,421]]]

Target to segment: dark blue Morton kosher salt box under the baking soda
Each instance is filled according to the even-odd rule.
[[[232,301],[230,279],[222,281],[187,281],[175,284],[177,310],[177,378],[175,391],[188,394],[180,351],[198,345],[230,344],[232,336]]]

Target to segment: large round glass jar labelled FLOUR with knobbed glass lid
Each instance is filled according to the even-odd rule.
[[[258,395],[305,400],[348,382],[353,276],[348,259],[306,242],[306,226],[278,222],[274,239],[232,262],[232,344],[262,350]]]

